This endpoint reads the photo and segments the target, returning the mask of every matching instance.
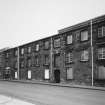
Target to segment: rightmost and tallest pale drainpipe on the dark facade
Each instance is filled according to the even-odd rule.
[[[92,20],[90,21],[91,24],[91,60],[92,60],[92,86],[94,85],[94,68],[93,68],[93,28],[92,28]]]

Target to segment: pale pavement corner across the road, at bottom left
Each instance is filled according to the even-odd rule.
[[[0,95],[0,105],[35,105],[12,97]]]

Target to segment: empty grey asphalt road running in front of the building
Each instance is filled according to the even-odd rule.
[[[0,81],[0,94],[36,105],[105,105],[105,91]]]

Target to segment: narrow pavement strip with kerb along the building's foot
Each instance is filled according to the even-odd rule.
[[[49,83],[49,82],[43,82],[38,80],[5,80],[5,81],[105,91],[105,87],[75,85],[75,84],[67,84],[67,83]]]

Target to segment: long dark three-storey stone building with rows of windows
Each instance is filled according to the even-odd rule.
[[[105,15],[3,52],[4,78],[105,84]]]

